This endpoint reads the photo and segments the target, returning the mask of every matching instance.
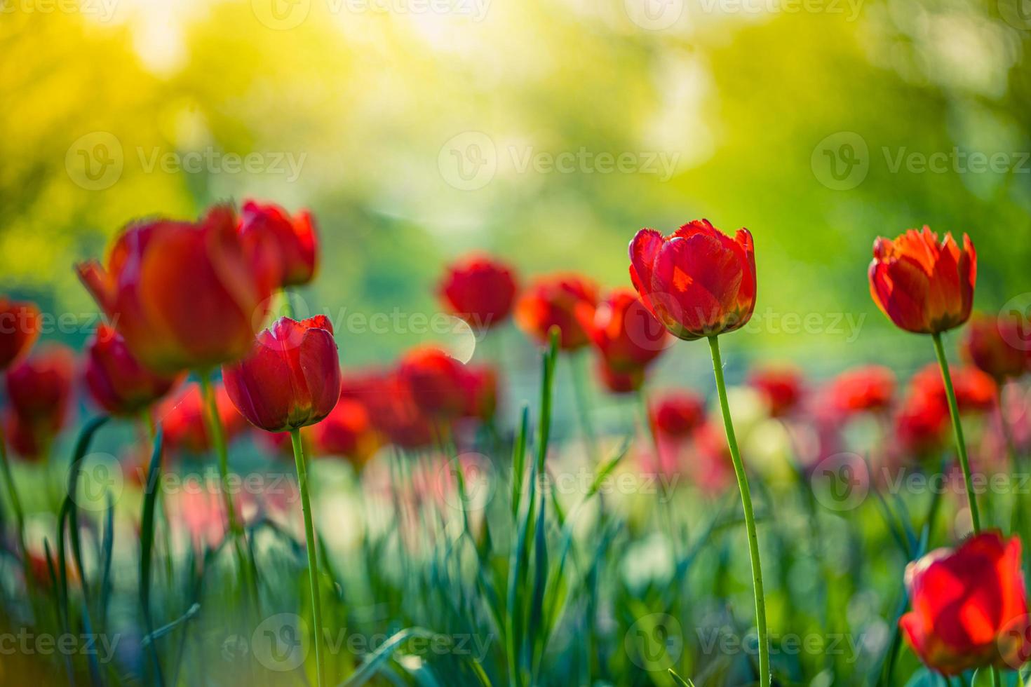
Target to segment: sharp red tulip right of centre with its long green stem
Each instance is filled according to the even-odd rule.
[[[759,634],[759,681],[765,687],[770,684],[770,664],[759,537],[749,478],[727,402],[719,343],[720,334],[743,327],[756,307],[752,234],[741,229],[730,238],[707,219],[688,222],[669,236],[642,229],[630,242],[630,280],[644,305],[673,336],[685,341],[708,339],[727,445],[749,536]]]

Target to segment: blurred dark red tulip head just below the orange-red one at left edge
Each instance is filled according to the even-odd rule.
[[[56,435],[71,400],[75,355],[61,344],[48,344],[7,370],[11,410],[37,438]]]

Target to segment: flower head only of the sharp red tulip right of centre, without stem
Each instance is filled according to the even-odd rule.
[[[686,341],[733,332],[756,307],[756,253],[749,230],[734,238],[707,219],[664,237],[642,229],[630,242],[630,279],[650,310]]]

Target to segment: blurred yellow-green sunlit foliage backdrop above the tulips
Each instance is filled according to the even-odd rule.
[[[980,309],[1029,288],[1027,0],[0,8],[0,286],[55,314],[95,311],[71,265],[127,220],[247,197],[314,211],[345,364],[420,338],[347,314],[435,312],[464,251],[628,285],[638,228],[700,216],[755,234],[729,345],[811,369],[929,356],[869,299],[877,234],[969,232]]]

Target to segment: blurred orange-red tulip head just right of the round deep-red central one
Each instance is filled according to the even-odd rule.
[[[558,327],[559,347],[574,350],[590,343],[588,334],[598,304],[593,282],[559,274],[535,281],[516,304],[516,321],[528,335],[547,345],[547,332]]]

